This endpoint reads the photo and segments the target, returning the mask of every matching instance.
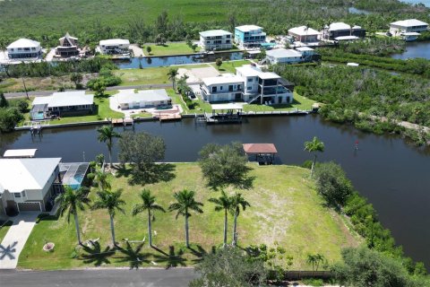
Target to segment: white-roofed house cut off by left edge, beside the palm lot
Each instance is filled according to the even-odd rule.
[[[0,213],[46,211],[61,158],[0,159]]]

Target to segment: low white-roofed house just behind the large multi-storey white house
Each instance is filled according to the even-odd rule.
[[[296,49],[275,48],[266,51],[266,60],[271,65],[275,64],[297,64],[318,60],[313,48],[299,47]]]

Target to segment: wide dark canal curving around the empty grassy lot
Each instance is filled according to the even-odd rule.
[[[37,148],[38,157],[91,161],[107,148],[97,141],[97,126],[53,128],[41,138],[29,132],[0,136],[0,152]],[[123,128],[118,127],[118,132]],[[351,126],[325,122],[318,116],[249,117],[242,125],[206,126],[193,118],[180,122],[142,122],[135,131],[164,138],[166,161],[195,161],[205,143],[275,143],[278,161],[300,164],[311,159],[303,144],[318,136],[325,143],[319,161],[337,161],[354,186],[369,198],[383,225],[392,231],[407,255],[430,266],[430,148],[419,149],[394,135],[373,135]],[[355,142],[358,141],[358,151]],[[116,158],[114,148],[114,158]],[[84,159],[83,159],[84,158]],[[280,206],[281,208],[281,206]]]

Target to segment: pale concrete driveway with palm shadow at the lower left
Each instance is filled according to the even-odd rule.
[[[0,269],[16,268],[22,248],[29,239],[38,215],[38,212],[22,212],[11,218],[13,225],[0,244]]]

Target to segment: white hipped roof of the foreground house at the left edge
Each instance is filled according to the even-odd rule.
[[[45,187],[61,158],[0,159],[0,186],[9,192]]]

